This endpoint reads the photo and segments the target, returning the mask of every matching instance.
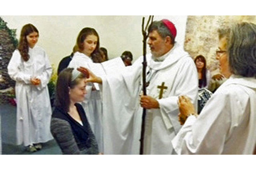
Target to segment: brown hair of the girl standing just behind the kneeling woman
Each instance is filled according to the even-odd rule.
[[[76,45],[78,46],[80,52],[83,51],[84,40],[88,35],[95,35],[98,38],[96,48],[91,54],[91,56],[89,57],[92,57],[93,62],[101,62],[101,54],[99,52],[99,34],[94,28],[89,28],[89,27],[83,28],[77,36]]]

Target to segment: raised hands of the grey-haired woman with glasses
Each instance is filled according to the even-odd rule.
[[[186,122],[186,119],[190,114],[197,116],[194,105],[187,96],[179,96],[178,106],[180,110],[180,113],[178,114],[180,125],[183,125]]]

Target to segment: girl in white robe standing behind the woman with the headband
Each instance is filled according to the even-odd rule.
[[[80,66],[90,68],[89,64],[100,62],[101,54],[99,52],[99,35],[94,28],[83,28],[77,37],[76,42],[79,51],[77,51],[69,68],[79,68]],[[99,65],[99,64],[98,64]],[[99,92],[99,85],[88,83],[86,86],[87,94],[81,105],[87,113],[88,122],[95,134],[99,145],[99,151],[103,150],[103,134],[102,134],[102,100]]]

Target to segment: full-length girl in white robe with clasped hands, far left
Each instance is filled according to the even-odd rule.
[[[52,74],[48,56],[36,46],[39,33],[32,24],[23,26],[18,49],[8,65],[9,76],[16,81],[17,144],[30,152],[53,139],[50,133],[51,104],[47,83]]]

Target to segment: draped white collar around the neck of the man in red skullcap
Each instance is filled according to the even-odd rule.
[[[152,55],[149,56],[150,57],[148,57],[148,67],[153,70],[161,70],[174,64],[180,58],[189,56],[189,54],[186,51],[184,51],[183,46],[175,42],[173,48],[169,52],[160,57],[160,60],[164,59],[162,62],[154,61],[155,57],[152,57]]]

